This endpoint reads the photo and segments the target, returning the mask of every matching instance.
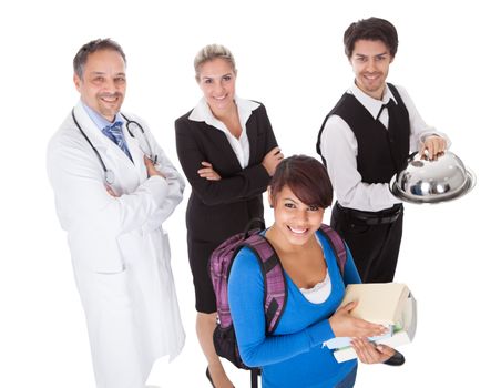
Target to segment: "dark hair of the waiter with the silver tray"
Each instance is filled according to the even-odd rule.
[[[395,57],[398,49],[398,33],[393,24],[388,20],[379,18],[362,19],[355,23],[345,31],[344,43],[345,53],[348,59],[354,53],[355,43],[358,40],[380,40],[386,44],[390,51],[390,55]]]

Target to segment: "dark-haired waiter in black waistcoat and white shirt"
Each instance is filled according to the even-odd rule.
[[[364,283],[391,282],[403,207],[389,182],[409,151],[434,159],[449,140],[425,123],[403,88],[386,83],[398,48],[390,22],[351,23],[344,42],[355,83],[325,119],[317,142],[337,196],[330,224],[351,249]]]

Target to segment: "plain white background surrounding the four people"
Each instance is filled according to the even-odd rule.
[[[129,59],[124,110],[146,119],[177,166],[173,123],[201,96],[192,61],[213,42],[232,49],[238,94],[266,104],[284,153],[315,155],[325,114],[352,81],[342,32],[370,16],[399,31],[388,80],[405,85],[425,120],[450,136],[478,184],[454,202],[406,207],[396,280],[419,302],[418,333],[402,349],[403,367],[361,366],[357,387],[500,386],[501,33],[493,3],[3,2],[0,387],[93,387],[84,316],[44,161],[49,137],[78,100],[76,50],[95,38],[122,44]],[[172,364],[155,365],[150,382],[162,387],[208,387],[194,330],[185,205],[165,227],[187,340]],[[228,371],[238,387],[248,386],[247,372]]]

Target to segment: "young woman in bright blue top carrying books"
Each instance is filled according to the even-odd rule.
[[[395,350],[365,339],[385,328],[354,318],[355,303],[339,308],[345,285],[360,283],[347,252],[341,277],[335,254],[317,229],[333,201],[333,186],[320,162],[309,156],[282,161],[268,188],[275,222],[265,232],[284,267],[287,303],[274,334],[266,336],[263,275],[257,258],[243,248],[232,266],[228,297],[244,363],[263,369],[263,387],[337,387],[355,384],[357,361],[338,364],[323,343],[355,337],[362,363],[381,363]]]

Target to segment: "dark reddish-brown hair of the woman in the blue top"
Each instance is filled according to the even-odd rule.
[[[311,156],[294,155],[278,164],[269,182],[273,204],[285,186],[308,206],[326,208],[333,203],[333,184],[327,170]]]

